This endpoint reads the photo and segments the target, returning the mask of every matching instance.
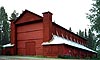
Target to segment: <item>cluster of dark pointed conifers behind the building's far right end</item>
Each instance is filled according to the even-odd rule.
[[[96,36],[92,33],[91,29],[88,30],[88,33],[87,29],[85,31],[79,30],[77,34],[87,40],[88,48],[96,50]]]

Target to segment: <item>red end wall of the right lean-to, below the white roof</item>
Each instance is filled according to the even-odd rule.
[[[47,57],[58,57],[59,55],[64,55],[63,45],[47,45],[44,47],[44,56]]]

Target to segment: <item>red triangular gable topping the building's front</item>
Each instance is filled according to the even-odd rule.
[[[42,16],[39,16],[33,12],[30,12],[28,10],[25,10],[16,20],[15,24],[21,24],[21,23],[26,23],[26,22],[31,22],[31,21],[36,21],[36,20],[41,20]]]

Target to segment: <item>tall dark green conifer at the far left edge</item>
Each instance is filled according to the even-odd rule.
[[[4,45],[9,43],[9,22],[8,22],[8,15],[5,12],[4,7],[0,8],[0,22],[1,22],[0,45]]]

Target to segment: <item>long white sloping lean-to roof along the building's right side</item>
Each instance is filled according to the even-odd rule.
[[[65,38],[62,38],[60,36],[56,36],[56,35],[53,35],[53,40],[51,40],[50,42],[43,42],[42,45],[52,45],[52,44],[67,44],[67,45],[70,45],[70,46],[73,46],[73,47],[76,47],[76,48],[80,48],[80,49],[83,49],[83,50],[87,50],[87,51],[91,51],[91,52],[94,52],[94,53],[97,53],[96,51],[93,51],[81,44],[78,44],[76,42],[73,42],[73,41],[70,41],[70,40],[67,40]]]

